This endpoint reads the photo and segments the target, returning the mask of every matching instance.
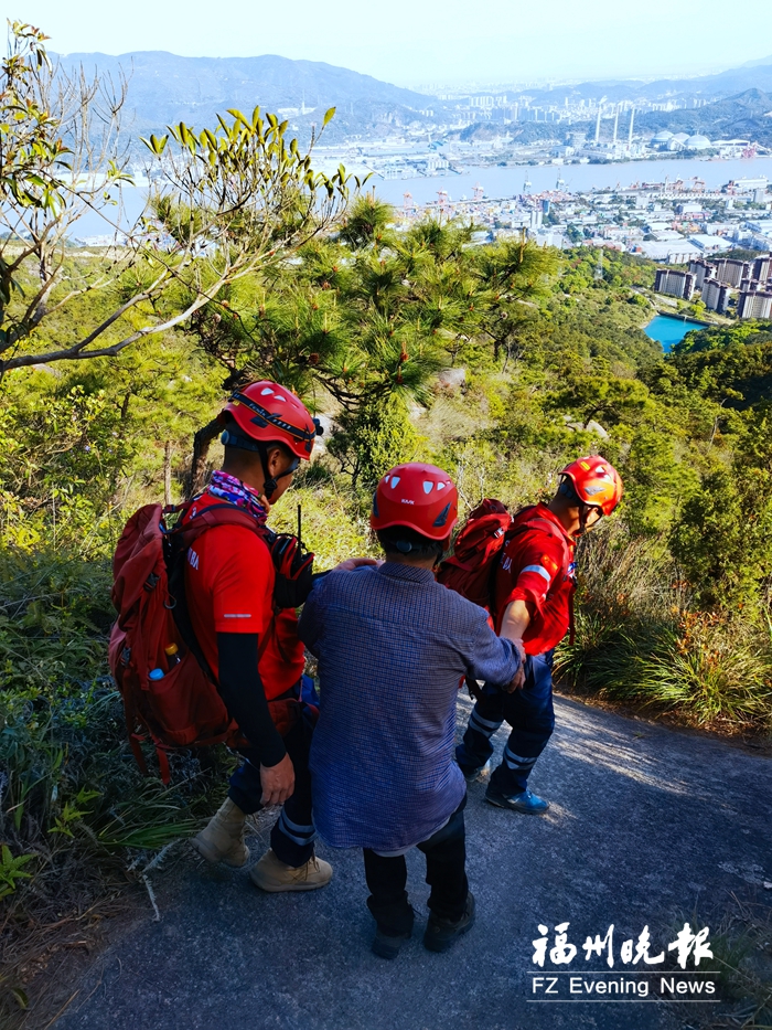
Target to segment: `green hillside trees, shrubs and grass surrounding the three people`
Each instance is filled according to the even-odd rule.
[[[691,333],[664,358],[641,328],[646,262],[607,253],[598,282],[594,254],[472,247],[472,231],[398,231],[368,194],[339,233],[228,285],[184,327],[117,358],[3,378],[7,1011],[42,954],[30,918],[39,931],[63,912],[76,918],[127,866],[141,878],[222,792],[224,751],[178,756],[169,788],[135,767],[106,666],[109,563],[140,503],[184,496],[193,433],[249,378],[285,382],[333,427],[274,518],[289,528],[302,503],[321,569],[372,549],[369,496],[392,464],[441,465],[468,511],[484,496],[512,508],[547,497],[567,461],[603,453],[626,493],[580,546],[565,687],[730,734],[769,732],[772,325]],[[20,272],[20,290],[33,272]],[[83,302],[98,320],[115,296]],[[39,346],[72,337],[83,314],[53,316]],[[208,467],[218,457],[214,444]]]

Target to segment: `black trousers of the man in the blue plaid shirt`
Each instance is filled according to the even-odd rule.
[[[429,909],[452,923],[463,915],[469,882],[467,880],[467,835],[461,801],[450,821],[428,840],[418,845],[426,854],[426,882],[431,888]],[[407,900],[407,862],[405,856],[385,858],[364,849],[365,878],[371,894],[367,907],[387,936],[396,937],[412,930],[414,911]]]

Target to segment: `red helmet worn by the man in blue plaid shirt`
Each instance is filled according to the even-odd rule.
[[[448,472],[409,461],[389,469],[373,497],[374,530],[409,525],[421,537],[447,540],[459,519],[459,493]]]

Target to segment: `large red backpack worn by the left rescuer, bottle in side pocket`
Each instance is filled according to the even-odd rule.
[[[164,783],[169,782],[168,751],[244,743],[190,624],[184,598],[184,560],[190,545],[213,525],[242,525],[257,533],[277,565],[275,607],[289,607],[298,601],[291,596],[291,587],[305,572],[310,588],[313,561],[312,554],[302,553],[297,538],[272,533],[234,505],[213,505],[183,521],[189,507],[140,508],[127,522],[112,560],[112,604],[118,618],[110,634],[110,671],[124,699],[135,757],[147,773],[140,742],[150,737]],[[269,637],[270,630],[264,635],[258,654]],[[165,649],[171,645],[178,650],[170,658]],[[162,676],[151,676],[159,670]]]

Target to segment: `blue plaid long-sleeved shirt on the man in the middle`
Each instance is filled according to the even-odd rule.
[[[427,840],[465,792],[453,761],[459,681],[508,683],[514,646],[427,569],[397,562],[317,581],[299,633],[319,658],[310,765],[322,839],[375,851]]]

